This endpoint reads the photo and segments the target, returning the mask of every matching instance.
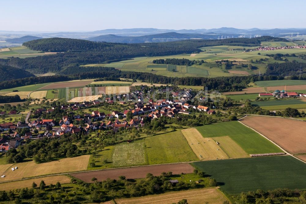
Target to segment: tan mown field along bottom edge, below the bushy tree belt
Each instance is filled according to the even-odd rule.
[[[147,195],[136,198],[115,199],[117,204],[171,204],[187,199],[189,204],[223,203],[227,198],[216,188],[200,188],[187,191],[168,192],[159,195]]]

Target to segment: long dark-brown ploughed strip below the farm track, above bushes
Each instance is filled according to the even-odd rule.
[[[117,169],[106,169],[95,172],[84,172],[70,174],[78,179],[81,179],[87,183],[92,183],[93,177],[97,178],[98,181],[110,179],[118,179],[119,176],[125,176],[127,179],[141,179],[147,176],[147,173],[151,173],[154,176],[160,176],[162,172],[172,172],[175,174],[181,174],[182,172],[192,173],[194,168],[188,163],[182,164],[162,164],[162,165],[151,165],[151,166],[139,166],[131,168],[117,168]]]

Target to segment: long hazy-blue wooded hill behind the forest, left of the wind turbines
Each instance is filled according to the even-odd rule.
[[[108,43],[160,43],[160,42],[169,42],[177,40],[189,40],[189,39],[218,39],[218,35],[203,35],[198,33],[177,33],[177,32],[166,32],[154,35],[145,35],[145,36],[117,36],[117,35],[102,35],[97,37],[89,38],[91,41],[97,42],[108,42]]]

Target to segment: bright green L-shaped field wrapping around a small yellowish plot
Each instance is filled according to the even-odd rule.
[[[248,154],[282,152],[273,143],[238,121],[196,127],[204,138],[229,136]]]

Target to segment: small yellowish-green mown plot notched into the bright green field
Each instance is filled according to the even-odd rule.
[[[241,146],[237,145],[235,141],[233,141],[229,136],[216,137],[213,138],[216,142],[218,142],[220,147],[224,152],[227,153],[230,158],[244,158],[249,157],[248,153],[246,153]]]

